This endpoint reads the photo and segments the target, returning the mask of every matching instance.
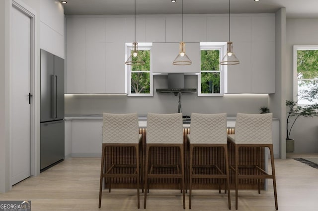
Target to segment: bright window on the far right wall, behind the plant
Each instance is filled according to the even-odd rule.
[[[294,46],[294,101],[298,105],[318,103],[318,99],[303,99],[318,84],[318,46]]]

